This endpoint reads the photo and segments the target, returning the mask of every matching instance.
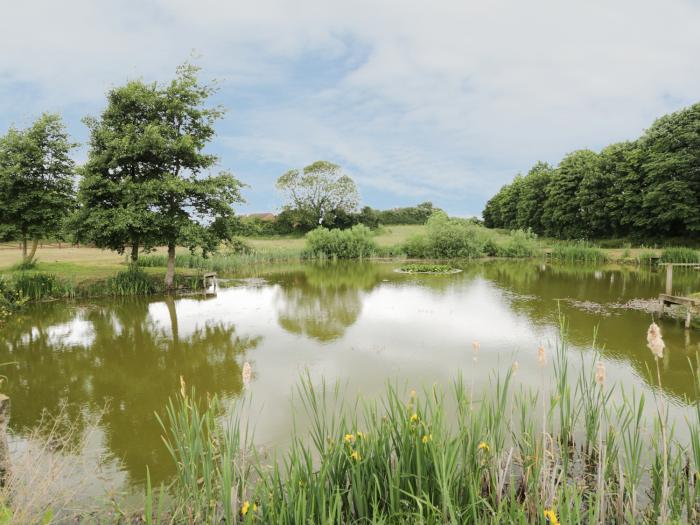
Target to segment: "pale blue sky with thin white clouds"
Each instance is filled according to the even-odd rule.
[[[279,211],[275,181],[340,164],[362,204],[480,215],[538,160],[638,137],[700,102],[697,0],[0,0],[0,133],[72,136],[128,80],[216,81],[210,151]],[[83,145],[75,151],[81,162]]]

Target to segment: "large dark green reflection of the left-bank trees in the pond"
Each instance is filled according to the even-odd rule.
[[[182,337],[177,312],[169,299],[171,329],[149,316],[149,303],[131,299],[71,310],[64,304],[41,306],[31,317],[8,323],[0,339],[0,359],[20,363],[9,371],[12,426],[34,427],[43,408],[57,413],[63,400],[77,416],[99,410],[105,446],[132,478],[143,479],[145,467],[162,478],[170,473],[154,413],[163,412],[178,392],[179,377],[200,392],[229,397],[240,393],[236,356],[260,338],[240,337],[227,323],[207,323]],[[166,301],[167,302],[167,301]],[[78,344],[51,337],[60,323],[83,321],[91,327]],[[168,333],[170,332],[170,333]],[[71,342],[74,343],[74,342]]]

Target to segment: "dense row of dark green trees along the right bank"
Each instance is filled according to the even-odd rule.
[[[561,239],[700,239],[700,104],[658,119],[637,140],[538,162],[491,198],[491,228]]]

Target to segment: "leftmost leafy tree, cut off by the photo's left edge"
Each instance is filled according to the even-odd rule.
[[[73,209],[75,146],[61,117],[50,113],[0,138],[0,224],[4,236],[21,239],[25,264],[33,261],[39,240],[58,234]]]

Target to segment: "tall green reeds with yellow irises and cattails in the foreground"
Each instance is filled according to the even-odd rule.
[[[475,344],[477,369],[478,357]],[[305,377],[297,416],[310,431],[290,429],[290,449],[272,462],[256,452],[246,430],[255,422],[242,421],[236,405],[222,420],[219,401],[183,383],[160,419],[177,476],[162,492],[148,488],[145,519],[697,523],[697,403],[690,443],[680,443],[663,397],[608,381],[603,365],[583,365],[583,356],[572,376],[565,343],[532,360],[539,389],[514,388],[513,363],[476,395],[470,378],[458,377],[449,393],[388,386],[379,402],[344,403],[342,390]],[[650,420],[646,404],[656,405]]]

